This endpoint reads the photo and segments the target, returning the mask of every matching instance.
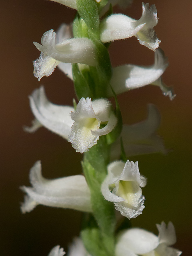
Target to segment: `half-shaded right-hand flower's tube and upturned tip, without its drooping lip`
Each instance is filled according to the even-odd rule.
[[[120,94],[128,90],[152,84],[162,76],[167,66],[167,58],[164,56],[164,52],[158,49],[155,52],[154,65],[144,67],[128,64],[113,68],[110,83],[115,93]],[[160,88],[162,89],[162,86],[160,86]],[[108,88],[108,96],[112,96],[110,88]]]

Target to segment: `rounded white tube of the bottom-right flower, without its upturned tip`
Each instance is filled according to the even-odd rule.
[[[116,244],[116,255],[126,256],[122,252],[130,250],[135,254],[146,254],[159,244],[158,237],[140,228],[131,228],[122,232]]]

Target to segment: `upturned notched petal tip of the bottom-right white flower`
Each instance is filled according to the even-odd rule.
[[[167,227],[165,222],[162,222],[161,224],[156,224],[156,226],[159,230],[160,243],[165,243],[168,246],[176,243],[176,233],[172,222],[169,222]]]

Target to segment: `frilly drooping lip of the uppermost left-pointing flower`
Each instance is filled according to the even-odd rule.
[[[41,53],[39,58],[33,62],[34,76],[38,78],[38,81],[40,81],[43,76],[50,76],[59,63],[60,61]]]

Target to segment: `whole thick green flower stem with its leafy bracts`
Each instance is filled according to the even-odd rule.
[[[80,98],[106,98],[106,88],[110,86],[112,66],[108,50],[99,36],[99,10],[107,3],[102,0],[76,0],[78,13],[73,22],[74,37],[92,40],[96,52],[96,66],[73,64],[73,80],[76,95]],[[108,45],[107,45],[108,46]],[[115,96],[115,95],[114,95]],[[104,199],[101,184],[107,174],[110,159],[110,144],[119,136],[122,119],[116,100],[118,126],[111,135],[101,136],[97,144],[84,153],[82,168],[90,188],[92,214],[84,217],[81,237],[92,256],[114,256],[115,226],[114,204]]]

